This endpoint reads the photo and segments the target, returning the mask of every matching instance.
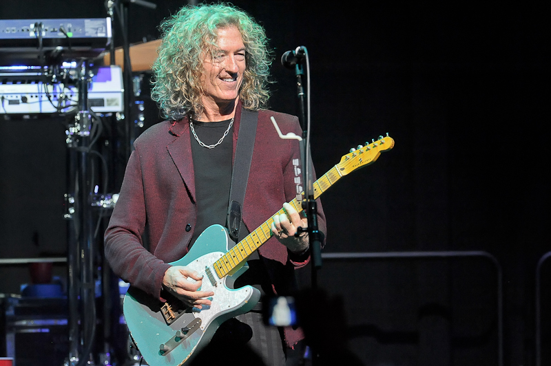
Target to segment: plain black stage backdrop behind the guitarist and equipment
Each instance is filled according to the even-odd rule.
[[[156,39],[158,23],[183,5],[154,2],[156,11],[130,7],[132,43]],[[392,151],[322,197],[325,252],[488,252],[503,275],[504,364],[534,365],[536,265],[551,250],[543,10],[532,3],[234,3],[271,39],[273,109],[297,113],[294,74],[278,59],[298,45],[309,50],[318,174],[357,144],[386,132],[395,139]],[[0,3],[2,19],[105,16],[96,0]],[[12,120],[0,121],[0,131],[0,255],[63,255],[63,128]],[[544,364],[551,363],[548,267]],[[0,292],[15,291],[11,270],[0,271]],[[320,287],[342,309],[326,308],[320,327],[329,344],[348,335],[365,365],[497,365],[497,281],[487,258],[326,259]],[[342,323],[344,333],[334,329]]]

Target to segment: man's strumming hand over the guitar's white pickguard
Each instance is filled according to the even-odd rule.
[[[202,277],[194,270],[184,266],[172,266],[165,272],[163,287],[188,306],[202,309],[202,305],[211,305],[207,297],[214,296],[212,291],[198,291]]]

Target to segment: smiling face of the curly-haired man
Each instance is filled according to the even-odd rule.
[[[236,100],[245,72],[245,45],[236,27],[218,30],[216,45],[214,57],[210,52],[204,54],[201,76],[202,104],[215,110]]]

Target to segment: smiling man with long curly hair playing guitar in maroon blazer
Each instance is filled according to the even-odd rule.
[[[134,142],[105,233],[105,255],[116,275],[160,301],[171,294],[198,312],[216,303],[216,291],[201,290],[198,272],[169,263],[185,256],[207,227],[227,226],[242,116],[258,112],[238,237],[282,204],[287,215],[273,216],[273,237],[249,256],[249,270],[236,279],[235,288],[291,294],[295,268],[309,261],[307,233],[295,235],[299,226],[307,226],[306,219],[284,203],[297,195],[299,148],[294,140],[278,138],[270,117],[283,133],[300,136],[301,131],[298,118],[266,109],[271,56],[264,30],[227,4],[186,6],[161,30],[152,98],[167,120]],[[318,212],[325,232],[319,203]],[[257,306],[222,323],[211,344],[247,344],[265,364],[285,365],[302,338],[300,328],[263,325]]]

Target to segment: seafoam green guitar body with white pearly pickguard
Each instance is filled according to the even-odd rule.
[[[201,290],[214,292],[209,308],[187,308],[172,323],[167,323],[162,302],[137,288],[129,288],[123,305],[125,320],[130,336],[149,365],[182,365],[207,345],[220,324],[248,312],[258,303],[260,292],[256,288],[245,286],[234,290],[227,286],[233,284],[245,267],[231,277],[220,279],[216,275],[213,264],[226,254],[228,242],[225,228],[210,226],[185,257],[170,263],[204,274]],[[165,346],[165,351],[161,345]]]

